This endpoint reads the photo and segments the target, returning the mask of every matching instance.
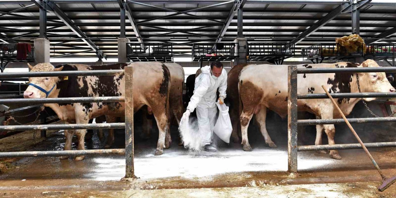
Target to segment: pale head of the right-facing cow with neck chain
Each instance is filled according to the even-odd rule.
[[[379,67],[379,65],[368,59],[358,67]],[[358,73],[360,90],[362,92],[395,92],[386,78],[385,72]],[[372,101],[375,98],[364,98],[365,101]]]

